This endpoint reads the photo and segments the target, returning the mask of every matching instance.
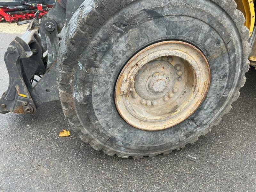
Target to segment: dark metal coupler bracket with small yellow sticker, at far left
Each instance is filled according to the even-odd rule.
[[[31,98],[29,90],[32,86],[29,82],[28,76],[25,72],[23,59],[31,59],[33,52],[29,44],[36,42],[38,36],[39,23],[33,20],[27,32],[20,37],[16,37],[9,45],[7,52],[4,55],[4,61],[9,73],[9,87],[4,92],[0,99],[0,113],[31,113],[36,111],[36,106]],[[27,107],[23,103],[27,103]],[[28,110],[29,108],[29,110]]]

